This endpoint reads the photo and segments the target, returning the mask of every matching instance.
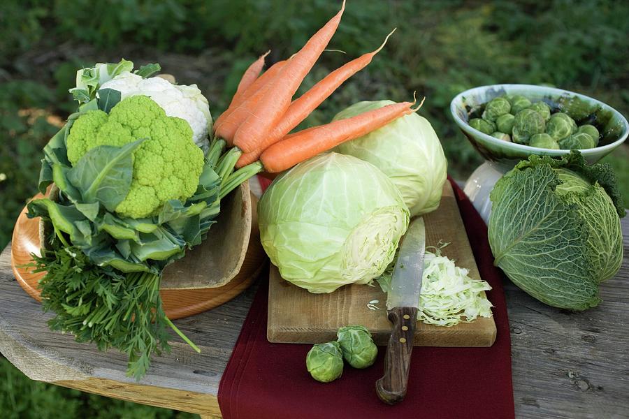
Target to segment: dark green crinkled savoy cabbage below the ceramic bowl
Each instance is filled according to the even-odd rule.
[[[609,166],[586,166],[578,152],[531,156],[491,192],[494,265],[546,304],[595,307],[598,283],[622,262],[619,197]]]

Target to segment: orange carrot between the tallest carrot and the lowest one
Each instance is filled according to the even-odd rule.
[[[382,50],[386,41],[389,40],[389,36],[391,36],[395,31],[396,29],[393,29],[391,34],[386,36],[384,42],[377,50],[363,54],[361,57],[349,61],[349,63],[337,68],[332,73],[326,75],[325,78],[320,80],[310,90],[305,92],[305,94],[294,100],[282,119],[280,119],[280,122],[278,122],[277,125],[272,128],[270,133],[263,138],[261,145],[256,147],[254,151],[240,156],[238,163],[236,163],[236,167],[241,168],[249,163],[253,163],[262,154],[264,149],[275,144],[275,142],[282,140],[287,133],[291,132],[293,128],[306,119],[306,117],[310,115],[310,112],[315,110],[317,106],[321,105],[326,98],[338,89],[345,80],[365,68],[371,62],[375,54]]]

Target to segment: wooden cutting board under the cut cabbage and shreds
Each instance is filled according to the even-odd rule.
[[[465,233],[461,214],[449,182],[444,185],[438,210],[425,216],[426,246],[450,242],[442,249],[456,265],[470,270],[470,277],[480,279],[474,255]],[[330,294],[312,294],[280,277],[271,265],[268,289],[267,338],[277,343],[317,344],[336,339],[336,331],[345,325],[364,325],[378,345],[386,345],[391,323],[386,310],[373,311],[367,303],[379,300],[385,307],[386,294],[380,287],[350,285]],[[496,340],[493,317],[477,318],[445,328],[417,322],[415,346],[491,346]]]

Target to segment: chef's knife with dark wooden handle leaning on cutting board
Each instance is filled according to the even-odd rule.
[[[426,228],[419,217],[411,221],[402,239],[386,299],[393,328],[386,347],[384,376],[376,381],[376,391],[388,404],[396,404],[406,395],[425,252]]]

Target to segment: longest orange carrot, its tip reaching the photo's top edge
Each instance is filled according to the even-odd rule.
[[[341,10],[288,61],[274,80],[272,89],[251,108],[251,115],[240,125],[233,138],[233,143],[243,152],[252,152],[260,147],[263,138],[286,113],[291,98],[338,28],[344,10],[345,0]]]

